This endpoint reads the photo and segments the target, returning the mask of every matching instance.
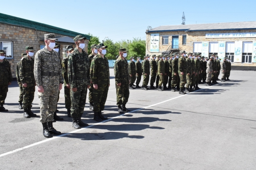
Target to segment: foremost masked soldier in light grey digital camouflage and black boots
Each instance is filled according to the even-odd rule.
[[[60,135],[52,126],[53,113],[56,110],[58,92],[62,88],[60,58],[56,51],[55,34],[44,34],[45,47],[36,52],[34,75],[40,100],[40,122],[43,124],[44,137]]]

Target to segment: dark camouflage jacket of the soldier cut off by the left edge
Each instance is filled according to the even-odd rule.
[[[9,82],[12,82],[11,65],[4,58],[3,63],[0,63],[0,85],[8,85]]]

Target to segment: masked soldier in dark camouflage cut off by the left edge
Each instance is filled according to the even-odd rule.
[[[8,112],[4,108],[4,100],[7,96],[8,85],[12,84],[11,65],[4,57],[4,50],[0,50],[0,112]]]

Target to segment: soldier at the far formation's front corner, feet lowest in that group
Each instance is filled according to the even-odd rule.
[[[186,84],[186,75],[187,75],[187,68],[186,68],[186,60],[184,57],[186,57],[186,51],[181,52],[181,56],[178,60],[178,73],[180,76],[180,92],[179,94],[187,94],[186,92],[183,92],[184,85]]]

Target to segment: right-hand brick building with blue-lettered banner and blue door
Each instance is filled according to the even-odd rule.
[[[146,54],[175,50],[228,57],[232,66],[256,67],[256,21],[159,26],[146,31]],[[221,60],[222,61],[222,60]]]

